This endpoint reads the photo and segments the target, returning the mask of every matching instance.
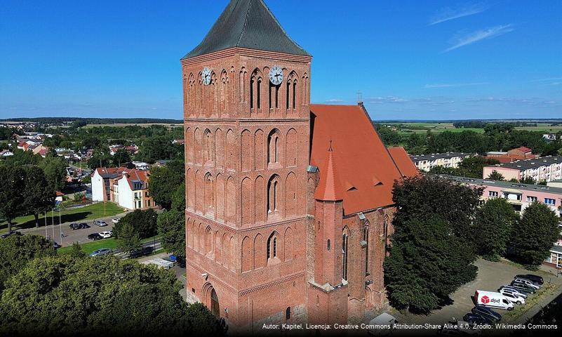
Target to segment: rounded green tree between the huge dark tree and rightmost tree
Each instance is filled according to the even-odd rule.
[[[478,253],[486,260],[499,260],[507,249],[517,219],[517,213],[505,199],[488,199],[474,218],[472,232]]]

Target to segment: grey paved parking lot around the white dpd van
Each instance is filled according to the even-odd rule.
[[[526,307],[524,308],[526,309],[524,310],[526,313],[518,317],[516,322],[504,322],[502,320],[502,323],[519,323],[524,322],[526,318],[534,315],[535,312],[540,310],[540,306],[544,306],[549,303],[562,290],[562,277],[556,277],[555,274],[548,272],[549,268],[547,267],[541,267],[541,269],[536,272],[529,272],[528,270],[516,267],[515,265],[511,265],[509,263],[490,262],[482,259],[476,260],[476,263],[474,264],[479,269],[476,279],[464,284],[464,286],[461,286],[460,289],[453,293],[451,296],[453,304],[446,305],[439,310],[434,310],[434,312],[431,312],[431,315],[429,316],[413,315],[409,312],[406,313],[406,315],[401,315],[399,312],[392,312],[392,315],[399,319],[401,323],[443,324],[450,321],[452,317],[462,320],[462,317],[464,317],[464,315],[467,314],[467,312],[470,312],[470,310],[474,307],[472,297],[474,297],[474,292],[476,290],[497,291],[500,286],[509,284],[513,280],[514,276],[518,274],[531,273],[540,275],[544,279],[543,287],[550,283],[555,287],[555,289],[554,291],[549,291],[544,298],[541,298],[539,303],[535,303],[534,305],[526,304]],[[532,300],[533,296],[536,295],[530,295],[528,301]],[[504,315],[507,312],[506,310],[495,311],[499,312],[501,315]]]

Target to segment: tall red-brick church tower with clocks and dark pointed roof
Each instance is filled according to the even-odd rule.
[[[262,0],[181,60],[187,291],[230,325],[305,313],[311,60]]]

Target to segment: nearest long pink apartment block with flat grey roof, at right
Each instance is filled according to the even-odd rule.
[[[562,216],[562,188],[544,185],[509,183],[500,180],[463,178],[447,176],[453,180],[471,186],[484,187],[482,199],[504,198],[511,204],[515,211],[521,212],[534,201],[542,202]]]

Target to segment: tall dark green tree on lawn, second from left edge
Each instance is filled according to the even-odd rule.
[[[37,166],[28,166],[23,190],[23,209],[26,214],[33,214],[35,227],[39,227],[39,214],[55,205],[55,190],[47,183],[45,173]]]

